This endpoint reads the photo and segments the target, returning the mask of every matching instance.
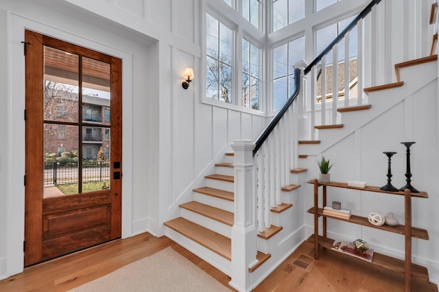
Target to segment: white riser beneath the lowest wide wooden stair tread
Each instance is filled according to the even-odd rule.
[[[215,254],[213,251],[206,249],[206,247],[203,247],[198,243],[195,243],[195,241],[187,238],[186,236],[176,232],[171,228],[166,228],[166,236],[171,238],[171,240],[174,240],[182,247],[185,247],[185,249],[188,249],[193,254],[199,256],[206,262],[209,262],[209,264],[219,269],[219,271],[222,271],[228,276],[231,275],[232,262],[230,262],[230,260],[227,260],[226,258]]]

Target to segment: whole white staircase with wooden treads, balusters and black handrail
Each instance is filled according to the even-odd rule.
[[[379,3],[379,1],[373,2]],[[379,30],[379,25],[375,29]],[[367,36],[374,38],[375,34],[372,32]],[[373,41],[376,42],[377,39]],[[337,52],[337,42],[332,43],[331,46],[333,47],[329,49]],[[431,52],[434,51],[436,48],[431,49]],[[365,57],[366,62],[368,58],[370,56]],[[348,56],[345,64],[347,60]],[[319,60],[316,59],[311,65],[314,66],[318,62]],[[304,222],[306,221],[304,218],[307,218],[305,210],[311,203],[307,195],[308,190],[301,191],[300,186],[307,179],[316,177],[317,172],[311,170],[316,170],[316,156],[334,147],[338,147],[337,153],[345,155],[344,143],[349,137],[357,132],[361,133],[371,123],[387,115],[406,100],[410,100],[421,89],[431,87],[436,82],[438,76],[436,63],[437,56],[434,55],[396,64],[395,82],[363,89],[362,85],[373,83],[369,82],[372,80],[370,76],[382,69],[377,67],[373,71],[369,68],[370,76],[359,76],[361,80],[359,80],[358,97],[355,100],[346,98],[342,106],[337,101],[328,105],[333,105],[333,108],[326,109],[327,101],[325,98],[322,99],[321,108],[318,109],[322,116],[320,124],[316,124],[316,117],[312,116],[316,112],[314,101],[317,98],[312,96],[316,93],[315,90],[311,88],[311,98],[309,98],[309,92],[302,89],[298,95],[297,106],[286,107],[285,111],[281,109],[283,111],[281,119],[277,120],[276,125],[271,128],[271,134],[267,134],[267,137],[270,135],[270,139],[259,146],[261,148],[257,148],[256,153],[252,153],[254,155],[252,159],[247,157],[246,160],[245,153],[235,157],[234,153],[227,152],[221,161],[217,161],[215,173],[204,177],[204,186],[194,188],[191,199],[180,204],[180,217],[164,223],[167,227],[166,235],[230,276],[230,286],[239,291],[250,291],[307,237],[305,234],[307,222]],[[309,83],[315,82],[312,78],[316,78],[315,68],[309,69],[311,65],[301,68],[305,74],[311,71]],[[323,58],[322,67],[324,66]],[[407,78],[409,70],[410,78]],[[306,79],[305,74],[302,78]],[[295,79],[298,82],[298,78]],[[305,79],[302,79],[300,84],[306,84]],[[338,88],[337,82],[336,78],[333,78],[332,88]],[[363,91],[367,96],[363,96]],[[345,93],[345,96],[348,94]],[[290,100],[292,102],[294,98]],[[305,108],[305,104],[310,105],[311,109],[301,109],[301,106]],[[309,112],[311,114],[306,117]],[[325,119],[326,114],[331,118]],[[276,117],[273,120],[276,120]],[[307,122],[304,122],[305,120]],[[298,124],[304,127],[298,128]],[[239,163],[235,158],[239,158]],[[250,170],[250,166],[254,166],[254,170],[251,170],[252,175],[246,178],[254,181],[254,186],[249,188],[242,175],[246,167]],[[289,169],[292,167],[293,169]],[[307,168],[312,173],[308,173]],[[351,175],[355,173],[348,174]],[[344,179],[346,177],[345,175]],[[244,187],[245,192],[242,190]],[[239,196],[235,191],[239,192]],[[246,207],[250,210],[246,210]],[[232,240],[231,238],[237,234],[238,240]],[[254,238],[257,238],[257,243],[254,243]],[[254,253],[252,253],[252,244],[256,246]],[[250,255],[248,250],[251,251]],[[239,281],[240,284],[237,284]]]

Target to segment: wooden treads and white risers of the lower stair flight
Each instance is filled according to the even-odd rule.
[[[193,189],[193,201],[180,204],[180,217],[164,224],[169,227],[167,236],[230,276],[230,237],[235,219],[234,155],[225,153],[224,157],[224,162],[215,164],[216,173],[204,177],[205,186]],[[291,172],[292,175],[300,175],[306,172],[306,169],[293,169]],[[300,185],[290,184],[283,186],[281,190],[284,196],[291,196],[298,188]],[[250,273],[272,258],[270,249],[285,240],[287,234],[283,234],[282,224],[288,224],[287,220],[293,212],[292,207],[292,203],[281,203],[271,207],[273,224],[263,232],[257,233],[257,263],[248,268]],[[276,256],[279,256],[278,253]],[[221,260],[217,260],[218,257]],[[278,260],[276,258],[276,262]]]

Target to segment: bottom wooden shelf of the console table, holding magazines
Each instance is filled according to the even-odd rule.
[[[309,236],[308,240],[309,243],[314,243],[314,234]],[[340,254],[338,251],[333,251],[331,249],[332,245],[334,243],[334,240],[331,238],[318,236],[318,245],[319,247],[324,247],[329,251],[336,252],[337,254]],[[345,254],[345,256],[349,256],[348,254]],[[370,262],[372,265],[377,265],[379,267],[384,267],[385,269],[390,269],[391,271],[396,271],[399,273],[405,272],[405,262],[404,260],[399,260],[397,258],[392,258],[391,256],[385,256],[383,254],[379,254],[375,251],[373,254],[372,262]],[[424,280],[429,282],[429,276],[428,276],[428,270],[426,267],[416,265],[412,263],[412,278],[418,279],[418,280]]]

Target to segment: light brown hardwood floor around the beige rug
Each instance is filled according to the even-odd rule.
[[[165,236],[156,238],[145,233],[28,267],[23,273],[0,281],[0,291],[67,291],[168,246],[228,287],[228,276],[209,263]],[[312,253],[313,245],[303,243],[254,291],[403,291],[402,274],[331,251],[322,251],[320,259],[314,260]],[[414,280],[412,291],[438,289],[435,284]]]

